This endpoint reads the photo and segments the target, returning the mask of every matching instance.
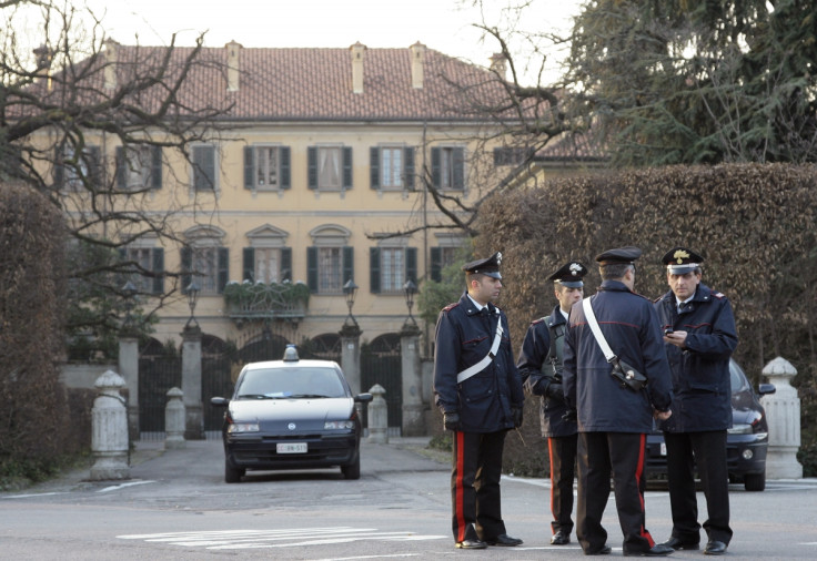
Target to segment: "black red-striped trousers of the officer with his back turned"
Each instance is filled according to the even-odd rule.
[[[646,435],[639,434],[578,434],[576,537],[585,553],[596,553],[607,542],[602,517],[609,498],[611,472],[624,550],[642,552],[655,545],[644,526],[646,441]]]

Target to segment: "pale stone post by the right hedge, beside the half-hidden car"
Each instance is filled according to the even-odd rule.
[[[769,424],[769,450],[766,456],[767,479],[801,479],[803,466],[797,461],[800,448],[800,399],[790,380],[797,369],[777,357],[763,369],[776,391],[760,398]]]

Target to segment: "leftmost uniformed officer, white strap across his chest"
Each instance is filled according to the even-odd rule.
[[[500,297],[502,254],[463,266],[467,290],[437,318],[434,395],[453,435],[452,528],[457,548],[513,547],[500,478],[507,430],[522,425],[524,394]]]

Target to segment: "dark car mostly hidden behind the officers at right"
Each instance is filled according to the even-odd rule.
[[[759,396],[774,394],[773,384],[760,384],[757,394],[746,374],[735,360],[729,360],[732,375],[732,428],[726,436],[726,462],[729,481],[744,483],[747,491],[766,488],[766,452],[769,427]],[[667,449],[664,434],[654,430],[647,436],[647,473],[666,475]]]

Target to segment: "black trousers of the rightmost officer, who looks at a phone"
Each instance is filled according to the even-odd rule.
[[[706,498],[708,518],[704,530],[709,540],[732,540],[729,528],[729,473],[726,467],[726,430],[664,432],[667,443],[667,482],[673,511],[673,536],[698,542],[698,503],[695,465]]]

